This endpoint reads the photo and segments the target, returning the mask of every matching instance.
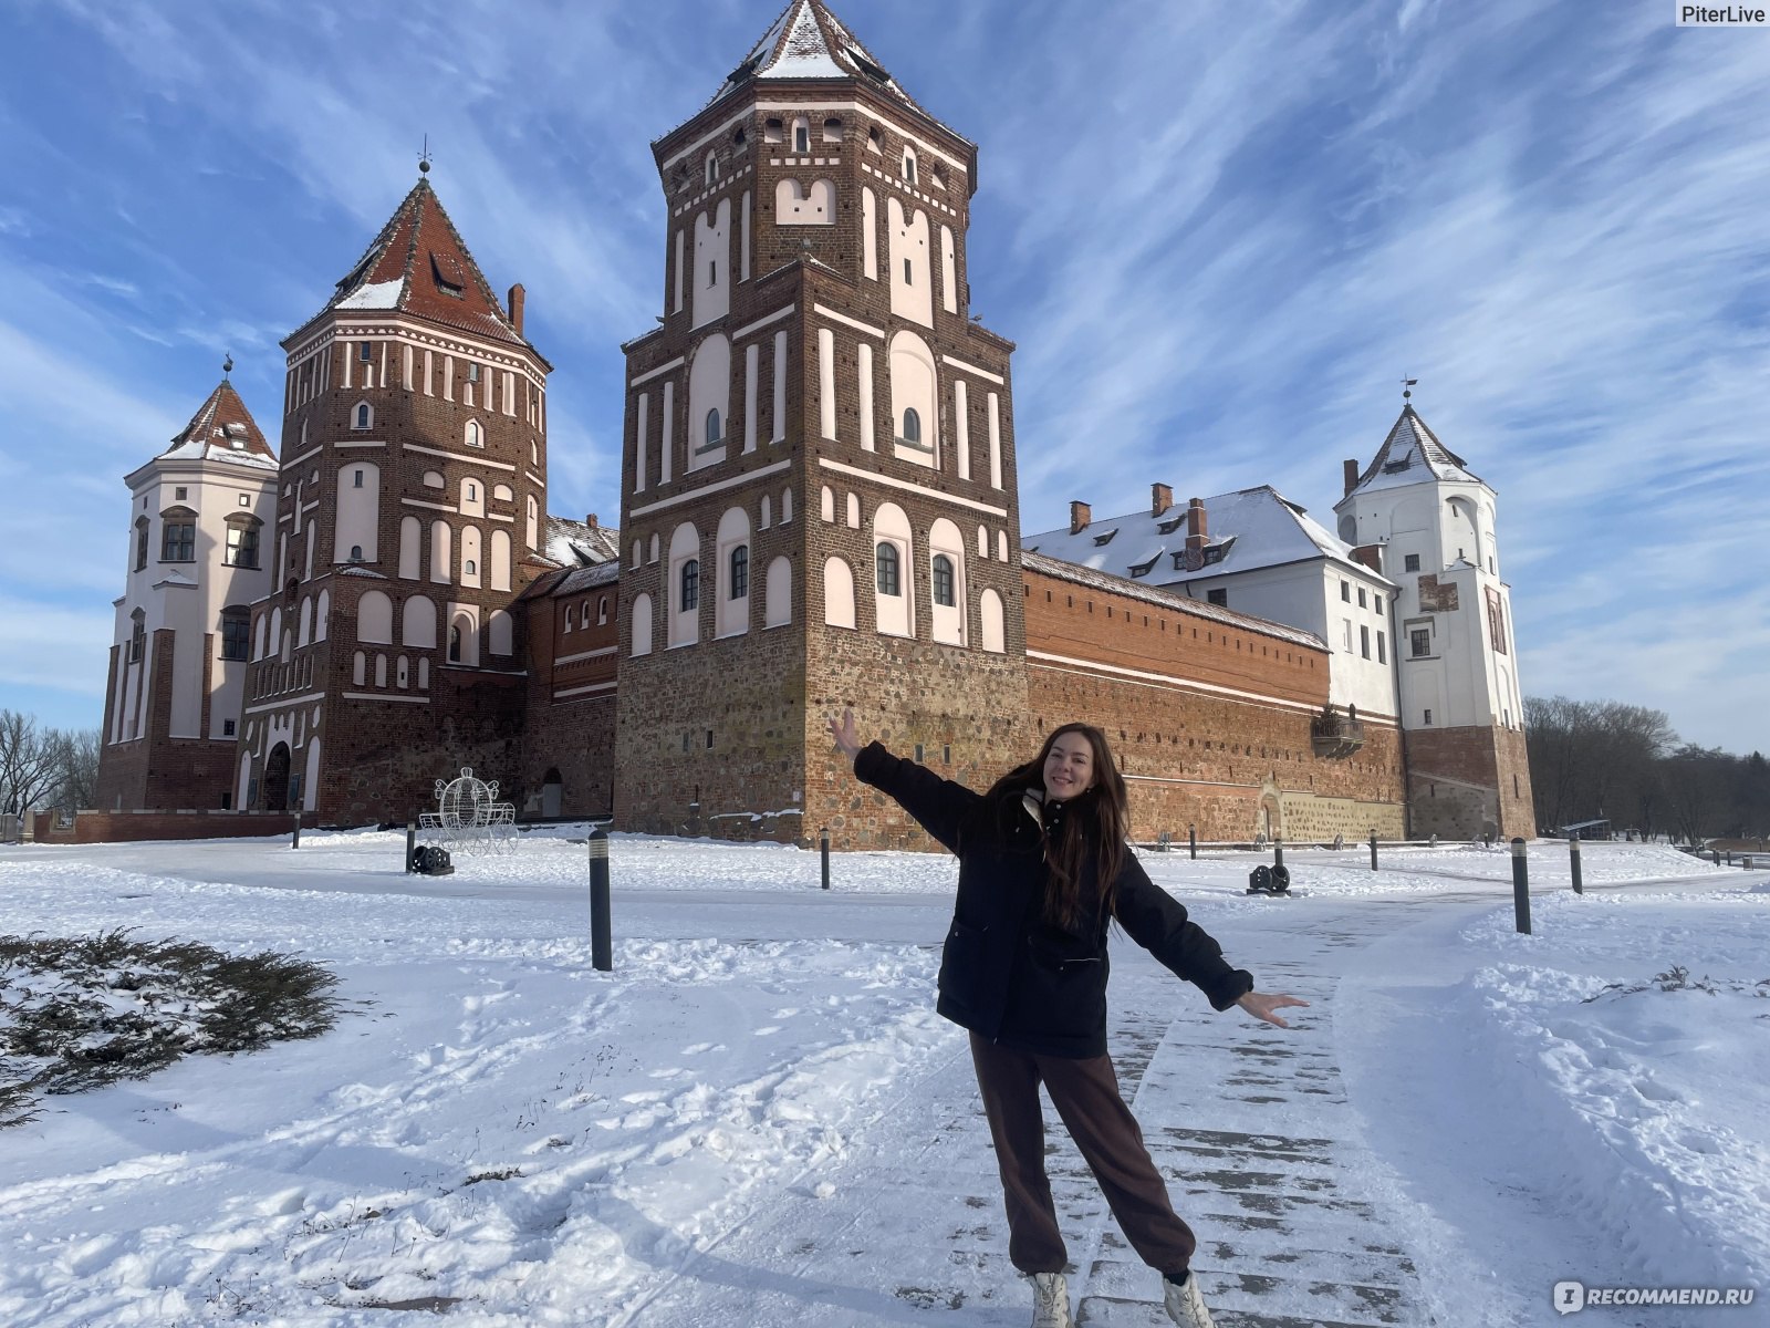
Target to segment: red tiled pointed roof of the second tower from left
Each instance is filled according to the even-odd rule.
[[[398,310],[476,336],[527,345],[442,211],[428,177],[419,177],[338,282],[333,297],[301,328],[333,310]],[[299,335],[301,329],[283,345]]]

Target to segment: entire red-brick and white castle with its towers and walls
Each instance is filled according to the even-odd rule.
[[[421,177],[283,342],[276,452],[223,381],[127,476],[101,807],[405,822],[471,765],[529,816],[926,846],[855,705],[974,786],[1096,722],[1140,838],[1535,832],[1494,494],[1411,405],[1338,533],[1156,483],[1023,535],[977,147],[793,0],[653,154],[618,529],[547,515],[524,289]]]

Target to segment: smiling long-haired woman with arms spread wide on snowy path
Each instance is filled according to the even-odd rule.
[[[940,1013],[970,1031],[977,1087],[1002,1170],[1009,1259],[1034,1282],[1034,1328],[1069,1328],[1067,1252],[1044,1174],[1039,1084],[1087,1160],[1131,1247],[1163,1273],[1168,1316],[1211,1328],[1189,1264],[1197,1245],[1174,1213],[1106,1055],[1106,928],[1117,921],[1216,1009],[1276,1015],[1306,1006],[1253,990],[1223,951],[1126,850],[1124,779],[1106,735],[1064,724],[1037,760],[988,793],[862,747],[853,710],[830,737],[855,776],[889,793],[959,859],[940,960]]]

